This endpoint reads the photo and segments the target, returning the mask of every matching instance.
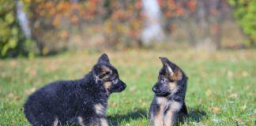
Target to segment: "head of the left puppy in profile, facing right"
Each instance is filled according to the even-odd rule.
[[[102,54],[92,68],[95,83],[102,86],[110,93],[121,92],[126,88],[126,83],[119,79],[119,72],[111,65],[107,54]]]

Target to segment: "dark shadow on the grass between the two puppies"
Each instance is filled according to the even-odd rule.
[[[113,116],[108,116],[108,120],[111,125],[119,125],[121,121],[137,120],[139,118],[147,117],[146,109],[135,109],[134,111],[126,114],[115,114]]]

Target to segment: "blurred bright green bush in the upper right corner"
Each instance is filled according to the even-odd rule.
[[[234,7],[234,16],[250,41],[255,46],[256,41],[256,1],[255,0],[229,0]]]

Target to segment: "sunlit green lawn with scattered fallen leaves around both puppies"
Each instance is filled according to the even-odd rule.
[[[127,88],[109,99],[107,117],[112,125],[149,125],[151,88],[168,57],[189,76],[185,125],[254,125],[256,121],[256,51],[201,52],[195,50],[127,50],[107,52]],[[0,125],[29,125],[24,100],[55,80],[84,76],[99,53],[67,53],[34,59],[0,61]]]

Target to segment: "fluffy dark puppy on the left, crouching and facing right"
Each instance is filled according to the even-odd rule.
[[[30,95],[24,113],[33,126],[107,126],[107,98],[125,88],[107,54],[102,54],[84,78],[50,83]]]

